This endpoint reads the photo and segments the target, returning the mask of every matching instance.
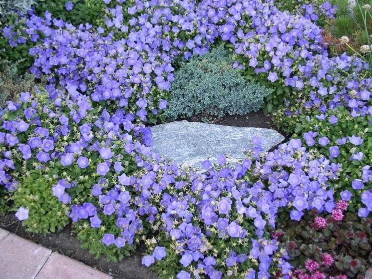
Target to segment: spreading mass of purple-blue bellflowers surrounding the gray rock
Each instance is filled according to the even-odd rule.
[[[23,225],[58,229],[44,214],[52,208],[60,226],[69,216],[85,246],[110,260],[143,241],[142,263],[160,278],[362,273],[296,271],[320,267],[312,255],[294,261],[275,228],[284,226],[282,215],[301,228],[309,211],[341,222],[347,204],[353,222],[369,230],[369,64],[329,55],[310,8],[281,11],[271,0],[103,3],[107,16],[98,27],[29,11],[3,29],[14,49],[31,44],[30,71],[48,80],[1,110],[1,195]],[[334,6],[322,7],[333,16]],[[247,158],[233,165],[221,155],[217,164],[203,162],[205,172],[180,169],[151,152],[147,125],[164,119],[177,59],[205,54],[219,41],[247,80],[273,89],[266,108],[295,134],[268,153],[253,138]]]

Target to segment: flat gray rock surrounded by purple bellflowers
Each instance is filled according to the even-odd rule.
[[[281,143],[284,137],[265,128],[231,127],[216,124],[171,122],[151,127],[152,150],[183,167],[201,167],[206,159],[215,161],[218,155],[229,155],[230,161],[244,159],[243,150],[252,137],[262,137],[265,151]]]

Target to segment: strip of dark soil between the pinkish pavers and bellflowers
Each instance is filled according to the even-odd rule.
[[[41,236],[26,232],[21,222],[9,213],[0,216],[0,228],[109,274],[114,279],[157,279],[154,272],[141,264],[142,255],[145,252],[144,246],[139,246],[130,257],[112,263],[107,262],[103,257],[95,259],[87,249],[81,248],[81,243],[73,236],[70,225],[60,232]]]

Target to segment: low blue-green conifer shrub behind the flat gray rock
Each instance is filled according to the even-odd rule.
[[[182,62],[174,74],[165,116],[170,120],[200,113],[223,117],[259,110],[272,90],[246,81],[233,62],[223,45]]]

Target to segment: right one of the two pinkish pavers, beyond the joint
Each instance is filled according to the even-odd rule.
[[[36,279],[112,279],[100,271],[58,253],[50,255]]]

